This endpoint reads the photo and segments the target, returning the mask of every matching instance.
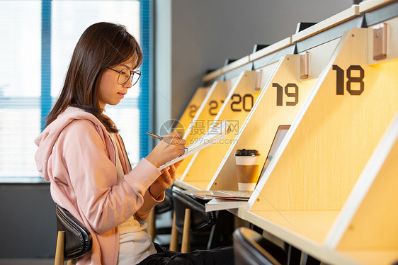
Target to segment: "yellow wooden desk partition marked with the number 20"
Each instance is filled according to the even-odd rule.
[[[272,71],[275,68],[275,64],[272,64],[270,68]],[[234,137],[239,133],[239,126],[244,123],[260,94],[261,79],[268,79],[271,75],[271,73],[268,73],[268,76],[267,73],[262,74],[263,72],[249,71],[241,75],[237,85],[233,88],[234,94],[232,94],[231,99],[227,102],[227,106],[222,112],[219,112],[217,120],[215,120],[215,123],[227,120],[229,125],[231,125],[232,132],[220,142],[215,143],[215,145],[207,147],[195,154],[191,160],[191,167],[186,168],[181,180],[192,186],[197,186],[195,184],[197,182],[210,184],[229,146],[232,145]]]

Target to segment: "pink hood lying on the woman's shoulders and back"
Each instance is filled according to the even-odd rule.
[[[59,133],[74,120],[90,120],[96,125],[97,130],[101,128],[99,130],[103,130],[103,135],[108,135],[105,126],[103,126],[96,116],[80,108],[68,107],[35,139],[35,144],[38,146],[38,150],[35,153],[35,162],[42,179],[50,181],[50,177],[47,173],[47,164],[52,154],[52,147],[54,147],[55,142],[57,142]]]

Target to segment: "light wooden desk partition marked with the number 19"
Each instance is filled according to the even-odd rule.
[[[281,124],[291,124],[303,106],[316,79],[300,80],[300,55],[285,55],[278,62],[265,88],[234,143],[215,173],[210,189],[237,190],[237,169],[234,152],[255,149],[261,154],[260,164],[266,159],[275,132]]]

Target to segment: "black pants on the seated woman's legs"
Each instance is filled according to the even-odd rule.
[[[147,256],[138,265],[174,265],[174,264],[195,264],[195,265],[233,265],[234,250],[232,247],[220,247],[210,250],[195,250],[189,253],[172,252],[169,249],[154,243],[157,254]]]

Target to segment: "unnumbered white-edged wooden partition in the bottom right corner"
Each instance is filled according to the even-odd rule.
[[[398,261],[398,113],[325,244],[364,264]]]

